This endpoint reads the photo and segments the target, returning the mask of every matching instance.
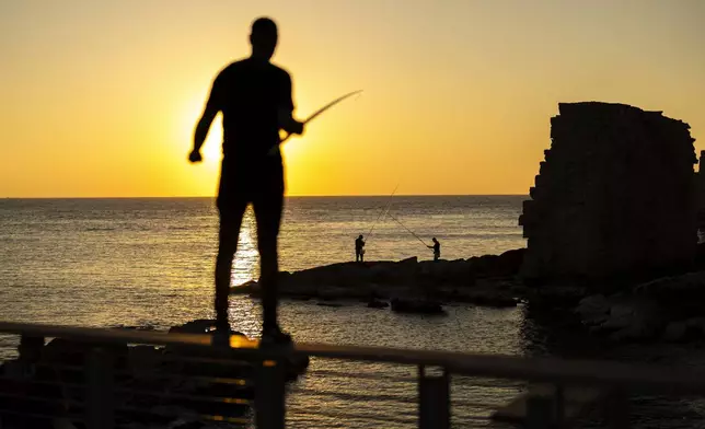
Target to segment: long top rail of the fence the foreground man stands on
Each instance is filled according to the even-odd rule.
[[[413,366],[443,367],[450,373],[486,378],[521,379],[539,382],[562,382],[587,385],[621,385],[669,392],[705,392],[705,372],[682,368],[662,368],[606,361],[577,361],[552,358],[521,358],[501,355],[471,355],[432,350],[405,350],[384,347],[352,347],[319,344],[297,344],[296,348],[228,348],[211,347],[206,334],[167,334],[157,332],[82,328],[39,324],[0,322],[0,332],[65,337],[84,341],[155,344],[209,347],[212,352],[235,358],[276,359],[292,355],[391,362]]]

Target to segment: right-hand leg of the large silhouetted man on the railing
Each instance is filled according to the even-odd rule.
[[[259,285],[262,290],[263,332],[278,332],[278,276],[279,255],[277,237],[284,208],[284,187],[263,192],[253,201],[257,221],[257,247],[259,248]]]

